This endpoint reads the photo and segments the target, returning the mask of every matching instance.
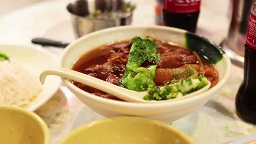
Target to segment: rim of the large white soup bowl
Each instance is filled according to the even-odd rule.
[[[73,43],[69,44],[66,49],[61,53],[60,56],[60,61],[59,61],[59,67],[63,68],[63,59],[65,59],[65,56],[68,55],[69,51],[73,51],[75,49],[73,49],[73,47],[75,47],[75,45],[78,45],[79,43],[81,43],[84,39],[90,38],[90,37],[95,37],[97,35],[100,35],[101,33],[108,33],[111,31],[122,31],[123,29],[138,29],[138,28],[142,28],[142,29],[162,29],[162,30],[166,30],[166,31],[173,31],[173,32],[177,32],[177,33],[186,33],[188,31],[185,31],[183,29],[178,29],[178,28],[173,28],[173,27],[166,27],[166,26],[119,26],[119,27],[112,27],[112,28],[106,28],[106,29],[102,29],[100,31],[96,31],[87,35],[84,35],[83,37],[73,41]],[[204,37],[201,37],[200,35],[196,35],[196,37],[198,37],[199,39],[202,39]],[[204,38],[204,40],[207,40],[208,43],[213,43],[212,41]],[[215,43],[213,43],[215,44]],[[216,46],[218,46],[216,44]],[[73,50],[72,50],[73,49]],[[217,47],[217,49],[219,49],[219,47]],[[117,105],[117,106],[121,106],[121,107],[135,107],[135,108],[159,108],[159,107],[168,107],[170,105],[173,106],[178,106],[178,105],[182,105],[182,104],[186,104],[186,103],[191,103],[191,102],[195,102],[197,101],[197,99],[202,99],[203,97],[206,97],[208,95],[211,95],[213,93],[216,93],[216,91],[218,91],[218,89],[222,88],[223,85],[225,84],[225,82],[228,80],[229,75],[230,75],[230,71],[231,71],[231,61],[229,59],[229,57],[223,53],[223,59],[221,61],[224,61],[224,63],[226,64],[227,67],[225,67],[225,74],[223,76],[223,79],[218,81],[217,85],[212,87],[211,89],[209,89],[208,91],[201,93],[199,95],[196,95],[196,97],[190,97],[188,99],[182,99],[182,100],[173,100],[170,101],[170,103],[131,103],[131,102],[126,102],[126,101],[118,101],[118,100],[112,100],[112,99],[106,99],[106,98],[101,98],[101,97],[96,97],[95,95],[85,92],[82,89],[74,86],[71,82],[69,82],[67,79],[63,79],[63,82],[68,85],[70,88],[72,88],[75,92],[78,92],[79,94],[83,95],[83,97],[87,97],[89,99],[93,99],[96,101],[101,101],[104,104],[110,104],[110,105]]]

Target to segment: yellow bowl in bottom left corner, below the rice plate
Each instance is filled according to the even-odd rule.
[[[0,105],[0,143],[49,144],[49,129],[33,112]]]

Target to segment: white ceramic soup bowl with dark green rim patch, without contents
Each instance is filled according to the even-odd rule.
[[[204,53],[214,64],[216,64],[216,68],[219,71],[219,82],[213,88],[202,94],[196,95],[195,97],[174,100],[170,101],[170,103],[142,104],[127,103],[124,101],[97,97],[79,89],[68,80],[63,79],[66,86],[80,99],[80,101],[91,107],[92,110],[100,115],[105,117],[141,116],[159,119],[164,122],[173,122],[195,111],[210,100],[211,96],[216,94],[219,89],[223,87],[229,77],[231,62],[219,46],[187,31],[162,26],[115,27],[85,35],[66,47],[61,55],[59,66],[71,69],[75,61],[86,52],[104,44],[130,40],[136,35],[142,37],[149,36],[158,40],[172,41],[173,43],[188,47],[199,53]]]

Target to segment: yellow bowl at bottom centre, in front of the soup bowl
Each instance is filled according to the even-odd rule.
[[[59,144],[159,144],[194,143],[164,122],[142,117],[114,117],[91,122],[73,130]]]

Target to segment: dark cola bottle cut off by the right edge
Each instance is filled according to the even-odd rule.
[[[236,94],[236,113],[244,121],[256,124],[256,0],[249,17],[243,82]]]

